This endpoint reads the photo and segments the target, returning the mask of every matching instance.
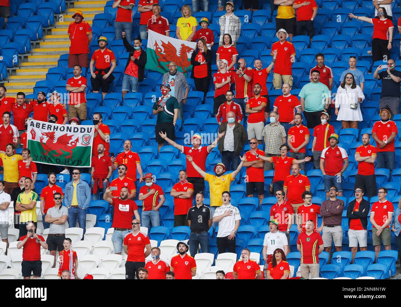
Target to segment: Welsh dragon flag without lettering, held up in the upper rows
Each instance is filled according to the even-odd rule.
[[[148,46],[146,47],[146,69],[168,72],[171,61],[177,63],[177,70],[186,73],[192,69],[191,55],[196,48],[196,42],[187,42],[149,30]]]

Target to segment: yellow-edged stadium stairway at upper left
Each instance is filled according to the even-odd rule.
[[[44,28],[41,40],[31,43],[32,49],[20,55],[20,63],[12,69],[12,73],[4,80],[7,96],[16,97],[20,91],[26,95],[33,93],[37,81],[45,80],[51,67],[57,67],[60,55],[69,52],[70,40],[67,35],[69,24],[73,21],[75,10],[81,10],[84,20],[92,25],[95,14],[103,13],[106,0],[77,0],[67,2],[63,14],[55,14],[55,23]],[[61,16],[63,16],[61,18]],[[22,61],[21,61],[22,57]]]

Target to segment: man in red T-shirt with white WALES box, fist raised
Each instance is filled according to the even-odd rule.
[[[121,188],[119,198],[110,198],[109,192],[110,187],[103,194],[103,199],[114,206],[113,224],[111,225],[114,231],[111,242],[113,242],[114,253],[121,254],[124,237],[131,231],[132,217],[135,216],[135,219],[140,221],[140,216],[134,200],[128,199],[130,190],[126,186]]]

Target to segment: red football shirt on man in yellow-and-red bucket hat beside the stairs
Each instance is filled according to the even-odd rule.
[[[70,55],[89,53],[88,35],[92,34],[92,28],[86,21],[71,22],[67,34],[71,39]]]

